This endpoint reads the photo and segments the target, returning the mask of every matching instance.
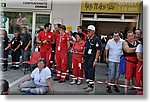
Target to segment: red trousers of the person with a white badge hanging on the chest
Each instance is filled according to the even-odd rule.
[[[65,80],[67,76],[67,67],[68,67],[68,52],[56,51],[56,79],[62,81]]]

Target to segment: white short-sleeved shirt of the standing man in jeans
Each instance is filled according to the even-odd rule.
[[[105,49],[109,50],[108,61],[120,62],[120,57],[121,57],[121,55],[123,55],[123,51],[122,51],[122,43],[123,42],[124,42],[124,40],[120,39],[116,43],[114,38],[110,39],[107,42]]]

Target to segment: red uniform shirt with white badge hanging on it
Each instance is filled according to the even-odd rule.
[[[69,34],[65,33],[64,35],[58,34],[56,39],[56,51],[65,51],[67,52],[67,42],[70,41]],[[60,50],[58,47],[60,46]]]

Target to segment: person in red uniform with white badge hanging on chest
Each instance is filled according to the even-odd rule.
[[[66,27],[61,25],[59,27],[59,35],[56,39],[56,71],[57,76],[54,81],[59,80],[59,83],[65,82],[67,75],[67,64],[68,64],[68,48],[70,47],[70,38],[65,33]]]

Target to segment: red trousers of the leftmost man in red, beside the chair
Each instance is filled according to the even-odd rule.
[[[41,57],[46,60],[46,66],[50,68],[50,60],[51,60],[51,54],[52,54],[52,49],[45,50],[45,51],[40,51]]]

